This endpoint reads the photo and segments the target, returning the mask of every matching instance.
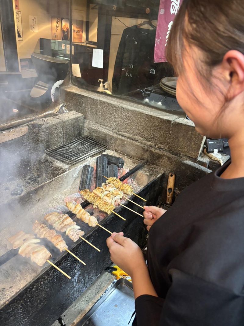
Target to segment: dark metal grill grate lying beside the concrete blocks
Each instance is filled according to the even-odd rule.
[[[47,155],[65,163],[73,165],[86,158],[104,152],[107,145],[88,136],[81,136],[61,146],[49,148],[45,151]]]

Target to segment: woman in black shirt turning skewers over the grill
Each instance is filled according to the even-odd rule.
[[[172,26],[177,100],[199,133],[228,138],[231,161],[167,212],[144,207],[148,268],[137,244],[108,238],[111,259],[132,277],[139,326],[244,325],[243,26],[243,0],[184,0]]]

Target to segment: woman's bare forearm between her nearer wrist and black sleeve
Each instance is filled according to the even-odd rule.
[[[147,265],[144,262],[142,266],[138,266],[137,269],[132,273],[131,279],[133,284],[134,296],[135,299],[140,295],[149,294],[157,297],[157,293],[153,287]]]

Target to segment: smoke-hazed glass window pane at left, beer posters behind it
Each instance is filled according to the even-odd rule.
[[[54,83],[69,78],[70,1],[1,1],[0,9],[0,123],[5,123],[50,110]]]

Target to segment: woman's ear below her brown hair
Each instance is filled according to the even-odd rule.
[[[229,99],[244,91],[244,54],[239,51],[228,51],[223,58],[222,67],[229,82]]]

